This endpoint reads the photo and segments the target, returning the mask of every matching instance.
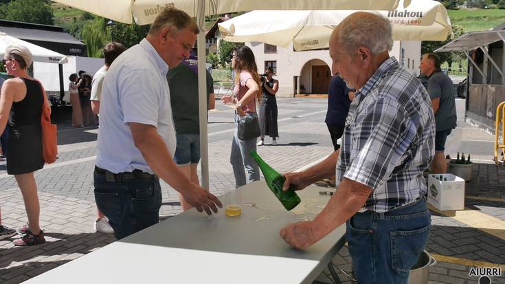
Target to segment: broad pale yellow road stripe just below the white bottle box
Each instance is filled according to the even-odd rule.
[[[505,221],[497,219],[493,216],[486,215],[478,210],[473,210],[470,208],[464,208],[464,210],[458,211],[440,211],[429,206],[429,209],[434,210],[447,217],[452,217],[461,223],[467,224],[472,228],[482,230],[488,234],[491,234],[499,239],[505,240]]]

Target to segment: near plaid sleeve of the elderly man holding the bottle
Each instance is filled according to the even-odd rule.
[[[390,179],[416,137],[416,127],[396,100],[381,98],[358,114],[351,131],[356,153],[344,177],[377,188]]]

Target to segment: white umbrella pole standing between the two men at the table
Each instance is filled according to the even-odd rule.
[[[205,1],[198,1],[198,98],[200,119],[201,186],[209,188],[209,145],[207,136],[207,76],[205,75]]]

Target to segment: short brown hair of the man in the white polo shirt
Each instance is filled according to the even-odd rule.
[[[149,34],[158,34],[164,28],[170,28],[174,34],[186,28],[189,28],[195,34],[200,32],[197,22],[188,13],[171,7],[159,13],[153,25],[150,26]]]

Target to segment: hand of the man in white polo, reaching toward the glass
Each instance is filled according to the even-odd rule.
[[[190,182],[190,185],[186,188],[186,190],[181,191],[181,194],[184,199],[191,204],[191,206],[197,208],[198,212],[203,212],[203,210],[205,210],[207,215],[212,215],[212,212],[210,211],[211,209],[214,213],[217,213],[216,206],[223,208],[221,201],[210,193],[209,190],[192,182]]]

